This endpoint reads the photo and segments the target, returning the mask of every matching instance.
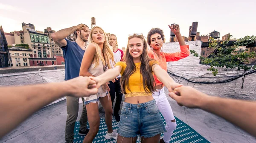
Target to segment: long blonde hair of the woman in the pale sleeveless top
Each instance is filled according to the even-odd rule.
[[[101,55],[101,48],[99,47],[99,45],[93,41],[93,37],[92,37],[93,32],[92,31],[96,28],[101,29],[105,36],[105,38],[104,38],[105,42],[103,43],[103,49],[102,49],[102,53],[104,54],[104,57],[102,57],[102,55]],[[96,46],[96,53],[93,58],[93,63],[96,63],[95,67],[99,65],[99,60],[102,60],[103,66],[107,65],[108,69],[112,69],[112,66],[115,63],[113,49],[108,43],[108,37],[107,37],[107,34],[104,32],[104,30],[99,26],[93,27],[93,29],[91,29],[90,36],[88,38],[88,42],[93,43]],[[112,60],[112,62],[111,62],[111,60]]]

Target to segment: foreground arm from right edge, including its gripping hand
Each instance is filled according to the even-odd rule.
[[[178,87],[169,92],[169,96],[180,105],[200,108],[223,117],[256,137],[255,101],[212,97],[189,86]]]

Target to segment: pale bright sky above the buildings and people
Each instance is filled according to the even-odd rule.
[[[58,31],[84,23],[116,34],[119,48],[127,47],[128,35],[151,28],[163,29],[169,42],[168,25],[180,25],[188,37],[189,26],[198,22],[197,31],[206,35],[216,30],[233,38],[256,35],[255,0],[1,0],[0,25],[5,32],[22,30],[21,23],[32,23],[35,30],[52,27]]]

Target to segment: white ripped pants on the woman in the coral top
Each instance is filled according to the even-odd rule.
[[[172,137],[172,133],[177,126],[176,122],[171,121],[175,119],[172,112],[172,107],[170,106],[166,94],[164,93],[164,87],[163,89],[157,89],[157,91],[152,95],[157,102],[159,111],[162,113],[164,119],[166,120],[166,132],[163,134],[163,140],[166,143],[169,143]]]

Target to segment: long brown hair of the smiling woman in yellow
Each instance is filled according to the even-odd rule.
[[[157,63],[156,63],[156,60],[154,60],[154,63],[151,66],[149,66],[149,61],[151,61],[153,59],[148,57],[147,41],[145,40],[143,35],[137,35],[137,34],[133,34],[128,37],[128,44],[127,44],[127,48],[125,50],[125,55],[123,57],[123,60],[125,61],[127,66],[126,66],[125,71],[122,74],[122,77],[120,80],[122,93],[126,94],[125,86],[127,86],[127,89],[129,91],[131,91],[129,88],[128,81],[129,81],[131,74],[134,74],[136,72],[136,66],[133,61],[133,57],[129,53],[129,41],[135,37],[140,38],[143,41],[143,52],[141,54],[141,59],[140,59],[141,60],[140,74],[143,77],[143,88],[144,88],[145,92],[153,93],[155,91],[156,87],[154,86],[155,80],[154,80],[154,76],[152,74],[152,66]],[[146,89],[146,88],[148,88],[148,89]]]

